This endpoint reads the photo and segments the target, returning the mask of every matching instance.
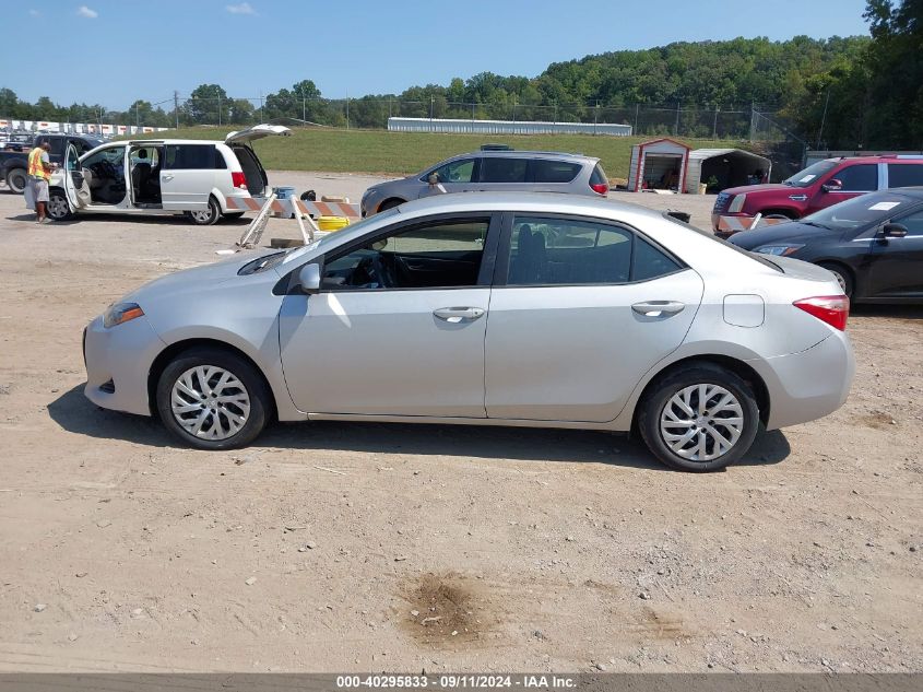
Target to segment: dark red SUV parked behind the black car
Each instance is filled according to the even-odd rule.
[[[923,185],[923,155],[849,156],[818,161],[781,184],[729,188],[714,200],[719,216],[801,219],[843,200],[895,187]]]

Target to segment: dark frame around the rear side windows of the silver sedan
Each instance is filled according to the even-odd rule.
[[[664,277],[672,277],[673,274],[677,274],[682,271],[686,271],[690,269],[690,267],[684,262],[679,257],[676,256],[675,253],[672,253],[667,248],[663,247],[660,243],[654,241],[649,235],[641,233],[635,226],[627,224],[622,221],[615,221],[613,219],[600,219],[599,216],[585,216],[583,214],[564,214],[564,213],[556,213],[556,212],[528,212],[528,211],[509,211],[504,212],[502,214],[502,225],[500,231],[500,243],[497,248],[497,261],[494,268],[494,289],[565,289],[565,288],[580,288],[580,286],[627,286],[627,285],[636,285],[641,283],[647,283],[648,281],[656,281],[658,279],[663,279]],[[509,278],[509,260],[510,260],[510,245],[512,241],[512,224],[513,219],[516,216],[534,216],[541,219],[561,219],[566,221],[582,221],[582,222],[590,222],[605,226],[612,226],[613,228],[617,228],[618,231],[629,233],[631,238],[631,258],[629,260],[629,269],[628,269],[628,281],[594,281],[591,283],[530,283],[530,284],[510,284],[507,283]],[[635,239],[641,238],[646,243],[650,244],[655,249],[660,250],[664,255],[666,255],[670,259],[678,265],[675,271],[667,272],[665,274],[660,274],[658,277],[651,277],[650,279],[639,279],[637,281],[631,280],[631,272],[635,268]]]

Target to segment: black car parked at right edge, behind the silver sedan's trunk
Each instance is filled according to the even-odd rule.
[[[731,243],[824,267],[857,303],[923,303],[923,187],[872,192]]]

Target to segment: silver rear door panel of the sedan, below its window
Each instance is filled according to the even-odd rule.
[[[702,296],[691,270],[624,285],[497,288],[485,351],[488,418],[605,422],[683,342]],[[637,303],[681,302],[648,317]]]

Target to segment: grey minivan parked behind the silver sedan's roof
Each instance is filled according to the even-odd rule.
[[[570,192],[589,197],[608,192],[608,179],[599,159],[487,145],[406,178],[372,185],[363,195],[363,216],[435,193],[430,185],[434,175],[446,192]]]

